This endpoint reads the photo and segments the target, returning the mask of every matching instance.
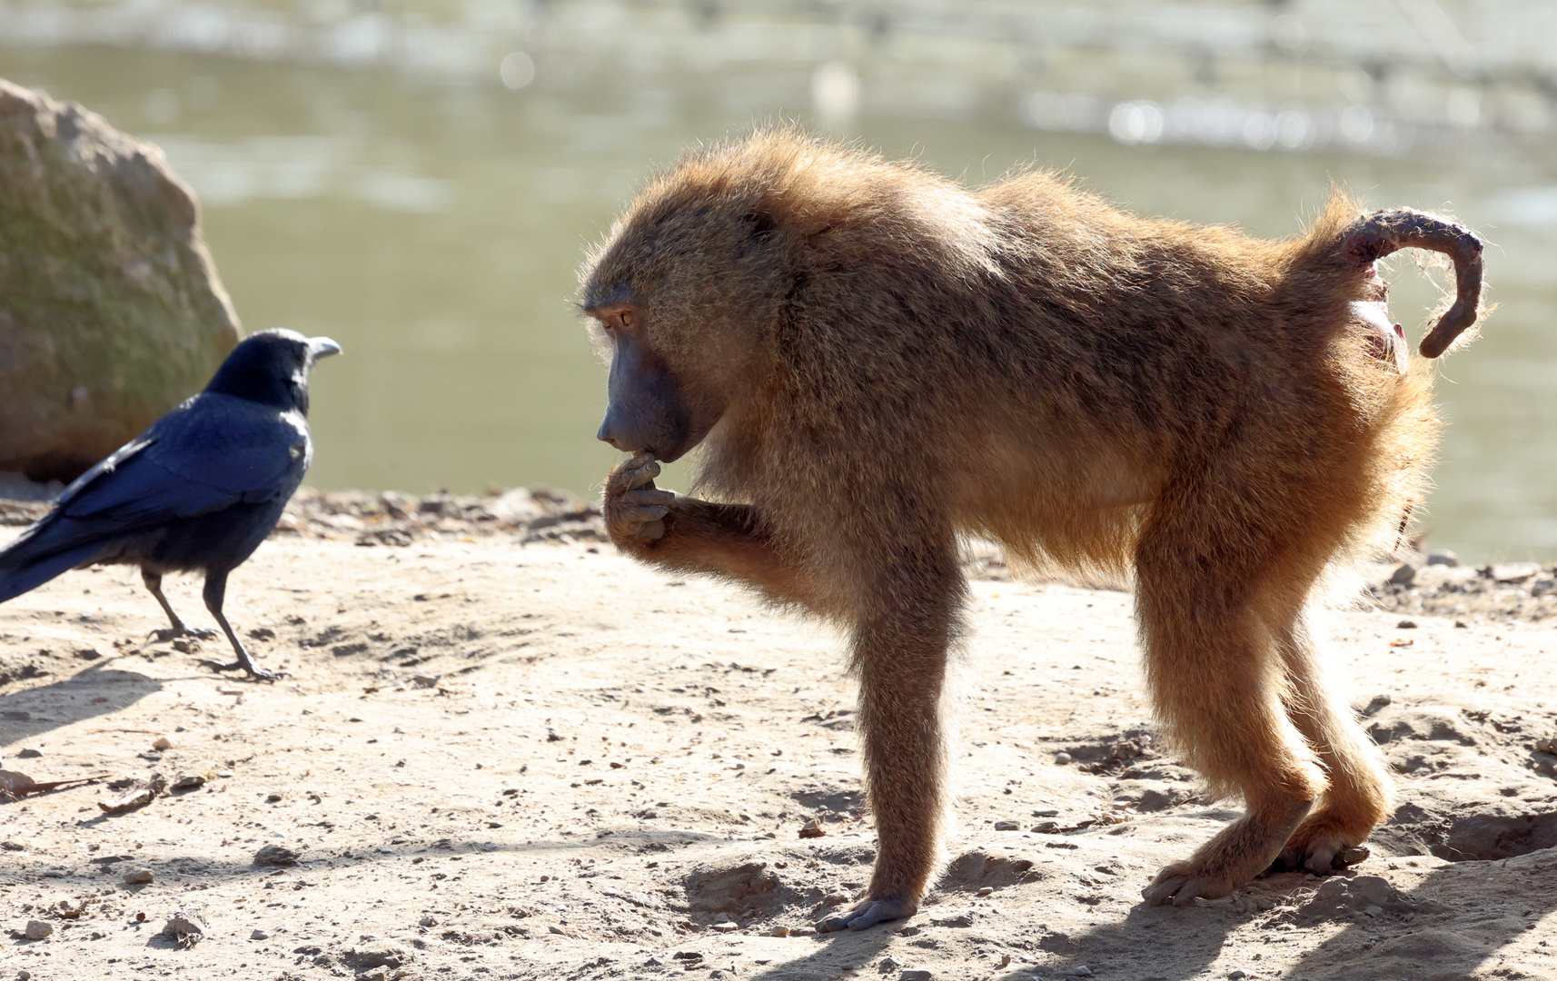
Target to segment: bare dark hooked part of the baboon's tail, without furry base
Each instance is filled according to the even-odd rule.
[[[1482,243],[1465,226],[1409,207],[1394,207],[1353,223],[1341,240],[1341,249],[1362,265],[1372,265],[1398,249],[1443,252],[1454,262],[1454,305],[1439,318],[1428,336],[1422,338],[1418,350],[1423,358],[1443,353],[1454,338],[1476,322],[1476,310],[1481,305]]]

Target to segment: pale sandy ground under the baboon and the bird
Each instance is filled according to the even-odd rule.
[[[276,685],[146,640],[134,570],[0,607],[8,769],[209,779],[0,803],[0,981],[1557,978],[1557,628],[1336,614],[1400,774],[1375,856],[1162,909],[1141,886],[1233,811],[1143,738],[1129,596],[976,581],[948,872],[909,922],[816,936],[873,849],[838,637],[523,537],[272,539],[227,612]],[[198,942],[160,933],[179,909]]]

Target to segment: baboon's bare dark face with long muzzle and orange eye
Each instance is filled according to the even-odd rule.
[[[623,453],[652,453],[671,462],[702,442],[724,405],[690,400],[687,389],[648,338],[641,304],[621,301],[592,307],[610,339],[606,419],[596,436]]]

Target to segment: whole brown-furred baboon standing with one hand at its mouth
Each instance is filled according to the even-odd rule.
[[[821,930],[911,916],[937,869],[959,536],[1133,576],[1155,710],[1247,807],[1148,902],[1365,855],[1389,782],[1305,607],[1422,497],[1429,371],[1375,271],[1408,246],[1457,272],[1432,358],[1476,321],[1479,240],[1342,193],[1264,241],[1053,173],[970,192],[797,131],[646,185],[581,272],[610,350],[599,438],[634,455],[606,520],[637,559],[847,629],[880,849],[864,902]],[[693,447],[713,500],[652,483]]]

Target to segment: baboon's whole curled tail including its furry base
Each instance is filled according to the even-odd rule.
[[[1409,207],[1390,207],[1337,221],[1337,210],[1347,209],[1347,204],[1341,196],[1331,201],[1328,212],[1303,243],[1306,258],[1342,276],[1361,274],[1372,279],[1373,263],[1400,249],[1428,249],[1448,255],[1454,263],[1454,304],[1422,338],[1418,347],[1423,358],[1439,357],[1481,313],[1481,238],[1442,215]]]

